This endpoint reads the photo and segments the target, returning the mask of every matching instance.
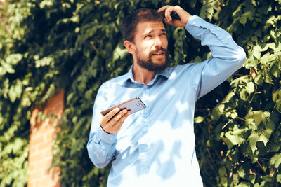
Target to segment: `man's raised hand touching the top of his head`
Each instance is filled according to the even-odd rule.
[[[175,11],[181,20],[173,20],[171,18],[171,13]],[[188,20],[192,17],[190,13],[186,12],[180,6],[163,6],[162,8],[158,9],[158,13],[165,15],[165,22],[169,25],[173,25],[174,27],[185,27],[188,23]]]

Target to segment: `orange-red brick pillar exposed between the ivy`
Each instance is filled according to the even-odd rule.
[[[55,125],[63,115],[63,108],[64,92],[61,91],[40,109],[32,111],[27,181],[29,187],[60,186],[58,183],[60,169],[50,169],[50,166],[53,159],[53,143],[58,131]],[[43,120],[38,118],[39,112],[43,113],[46,118]]]

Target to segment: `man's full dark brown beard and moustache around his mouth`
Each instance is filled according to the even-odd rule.
[[[159,53],[158,51],[161,51],[165,54],[165,61],[163,64],[155,64],[153,61],[152,61],[152,54],[153,53]],[[147,69],[148,71],[155,71],[155,72],[158,72],[158,71],[162,71],[164,69],[166,69],[167,67],[170,66],[170,60],[169,60],[169,55],[168,53],[166,53],[166,49],[164,48],[161,48],[159,50],[155,50],[155,51],[152,51],[149,56],[148,56],[148,59],[147,60],[141,60],[141,58],[139,57],[139,55],[137,56],[137,63],[138,65],[140,65],[141,67],[143,67],[144,69]]]

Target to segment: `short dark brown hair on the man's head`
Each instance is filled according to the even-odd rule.
[[[156,10],[149,8],[140,8],[133,13],[127,15],[121,25],[121,31],[123,39],[132,41],[136,32],[136,25],[143,21],[161,21],[164,24],[164,17],[160,15]]]

